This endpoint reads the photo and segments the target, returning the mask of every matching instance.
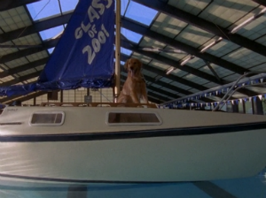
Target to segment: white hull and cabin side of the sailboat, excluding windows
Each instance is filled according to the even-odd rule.
[[[23,123],[0,126],[3,180],[196,181],[249,177],[266,165],[264,116],[193,110],[46,107],[64,110],[64,125],[29,126],[31,113],[42,107],[23,108],[9,107],[0,116],[2,124]],[[106,111],[112,110],[154,111],[162,123],[108,126]]]

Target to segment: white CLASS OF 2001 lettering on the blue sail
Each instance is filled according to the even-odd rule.
[[[110,8],[110,6],[113,4],[113,0],[106,0],[107,4],[101,4],[101,0],[93,0],[87,13],[89,22],[87,24],[84,24],[84,21],[82,21],[81,27],[77,27],[74,31],[74,37],[75,39],[82,38],[83,35],[89,35],[91,40],[91,43],[86,45],[82,49],[82,54],[88,53],[88,64],[90,65],[93,61],[93,59],[96,57],[96,53],[98,53],[101,50],[101,45],[106,43],[106,37],[109,37],[109,33],[106,31],[106,27],[104,24],[101,25],[101,29],[98,31],[96,29],[96,26],[94,21],[96,19],[99,19],[101,15],[104,14],[106,9]],[[88,21],[88,19],[87,19]],[[85,34],[83,34],[85,33]]]

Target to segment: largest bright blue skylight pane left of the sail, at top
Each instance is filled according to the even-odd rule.
[[[43,19],[60,13],[59,2],[55,0],[43,0],[33,4],[27,4],[33,20]]]

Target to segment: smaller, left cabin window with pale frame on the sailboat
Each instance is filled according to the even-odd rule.
[[[65,113],[62,111],[37,111],[30,118],[31,126],[61,126]]]

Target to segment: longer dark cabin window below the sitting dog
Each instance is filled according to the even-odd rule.
[[[160,125],[161,120],[153,112],[109,112],[107,123],[111,125]]]

